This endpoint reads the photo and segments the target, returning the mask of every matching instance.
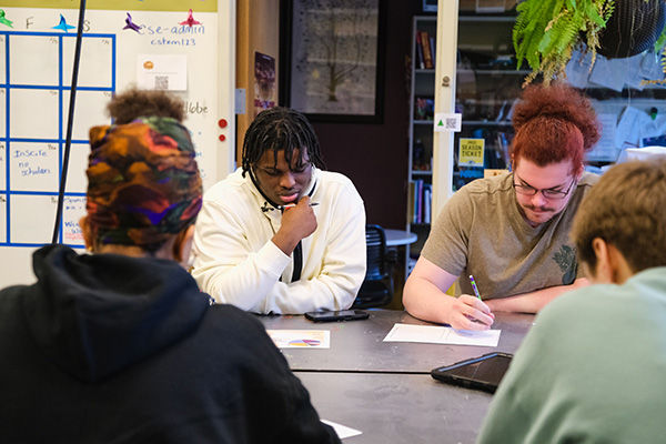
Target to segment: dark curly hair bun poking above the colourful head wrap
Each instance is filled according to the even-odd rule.
[[[107,109],[115,124],[130,123],[140,117],[172,118],[181,123],[185,119],[183,101],[167,91],[131,88],[115,94]]]

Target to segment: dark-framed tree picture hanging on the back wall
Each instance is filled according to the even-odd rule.
[[[384,2],[289,1],[285,104],[311,121],[382,121]]]

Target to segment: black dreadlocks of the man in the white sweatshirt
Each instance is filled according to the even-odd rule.
[[[290,108],[275,107],[262,111],[250,124],[243,141],[243,176],[269,150],[273,151],[275,163],[279,151],[284,151],[284,159],[291,165],[294,150],[301,150],[296,168],[303,167],[305,152],[316,168],[326,168],[312,125],[305,115]]]

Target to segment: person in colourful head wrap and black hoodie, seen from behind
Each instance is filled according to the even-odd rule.
[[[90,143],[93,254],[44,246],[37,283],[0,291],[0,442],[339,443],[263,325],[181,266],[202,199],[186,128],[140,117]]]

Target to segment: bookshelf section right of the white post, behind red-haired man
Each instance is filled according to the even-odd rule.
[[[454,135],[452,191],[483,178],[485,170],[505,170],[513,139],[511,117],[526,70],[516,70],[512,12],[478,14],[461,11],[456,60],[455,112],[463,114]],[[483,32],[481,32],[483,30]],[[483,163],[460,163],[465,141],[483,147]]]

